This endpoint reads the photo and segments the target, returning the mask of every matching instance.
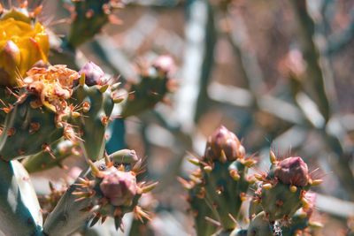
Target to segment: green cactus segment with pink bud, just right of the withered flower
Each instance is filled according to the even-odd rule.
[[[81,69],[81,80],[73,91],[73,103],[81,105],[81,117],[73,123],[78,126],[84,155],[90,160],[104,155],[105,130],[114,103],[120,102],[113,94],[118,84],[110,86],[103,77],[98,66],[88,63]]]

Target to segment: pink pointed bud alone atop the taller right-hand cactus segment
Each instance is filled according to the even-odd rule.
[[[227,158],[227,161],[235,161],[244,155],[245,150],[235,133],[230,132],[224,126],[220,126],[209,137],[204,157],[224,162],[226,161],[225,158]]]

